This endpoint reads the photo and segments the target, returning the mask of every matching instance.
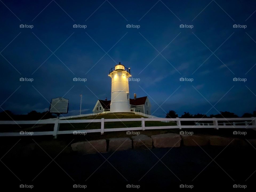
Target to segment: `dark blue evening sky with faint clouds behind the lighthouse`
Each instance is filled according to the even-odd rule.
[[[140,79],[129,82],[131,98],[133,93],[148,96],[151,113],[157,109],[153,115],[164,117],[169,110],[179,115],[252,112],[255,9],[255,1],[1,0],[1,107],[16,114],[42,112],[51,98],[65,95],[68,115],[75,115],[82,93],[82,113],[91,113],[98,98],[110,99],[107,75],[121,62]],[[21,77],[34,81],[21,82]],[[74,82],[74,77],[87,81]],[[193,82],[180,81],[182,77]]]

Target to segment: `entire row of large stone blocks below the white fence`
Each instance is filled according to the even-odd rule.
[[[220,136],[179,135],[175,133],[136,135],[130,138],[110,138],[94,141],[83,141],[71,144],[73,151],[78,153],[106,153],[129,149],[152,149],[180,146],[256,146],[256,139],[243,140]]]

